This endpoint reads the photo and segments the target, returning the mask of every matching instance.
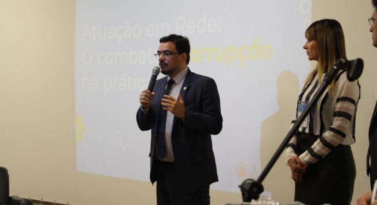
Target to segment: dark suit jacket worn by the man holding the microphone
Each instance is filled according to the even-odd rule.
[[[156,81],[153,89],[156,94],[147,115],[143,117],[140,107],[136,116],[141,130],[151,129],[149,156],[152,184],[156,182],[158,173],[153,155],[166,79],[164,77]],[[220,97],[213,79],[192,73],[189,69],[180,93],[185,103],[186,116],[185,121],[174,117],[171,141],[182,188],[192,193],[218,181],[211,135],[220,133],[222,129]]]

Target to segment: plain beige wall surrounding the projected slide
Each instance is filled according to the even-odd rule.
[[[348,58],[359,57],[365,63],[357,141],[352,146],[357,167],[355,200],[369,189],[367,130],[377,99],[377,49],[367,22],[372,6],[369,0],[313,0],[312,10],[313,21],[340,21]],[[82,205],[155,204],[155,187],[148,182],[76,172],[74,23],[74,0],[0,0],[0,165],[9,169],[11,194]],[[270,26],[276,23],[287,22],[277,17]],[[292,86],[284,82],[295,83],[295,76],[286,72],[281,81],[278,86]],[[281,109],[263,124],[286,124],[285,116],[291,116],[292,110],[287,92],[284,87],[279,91]],[[262,141],[278,146],[269,136],[281,133],[283,139],[287,126],[274,132],[262,130]],[[273,149],[262,150],[266,150],[261,153],[264,165]],[[281,158],[264,182],[282,203],[293,201],[289,176]],[[211,191],[211,196],[213,205],[241,202],[238,193]]]

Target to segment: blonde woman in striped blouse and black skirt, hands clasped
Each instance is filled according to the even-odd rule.
[[[346,57],[344,34],[338,21],[315,21],[306,29],[305,36],[308,59],[317,64],[307,75],[292,125],[334,62]],[[338,71],[288,143],[285,155],[295,181],[295,201],[308,205],[351,203],[356,171],[350,145],[355,142],[359,98],[358,82],[348,81],[346,72]]]

